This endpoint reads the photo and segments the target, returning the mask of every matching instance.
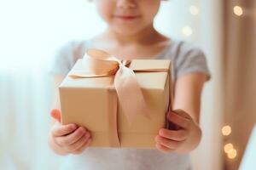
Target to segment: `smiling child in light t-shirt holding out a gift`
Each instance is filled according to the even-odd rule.
[[[91,138],[86,127],[61,125],[61,112],[55,109],[50,113],[54,124],[49,146],[59,155],[68,155],[62,169],[190,169],[188,154],[201,141],[201,90],[210,78],[204,54],[188,42],[165,37],[154,29],[160,0],[94,3],[108,29],[90,41],[70,42],[61,48],[53,70],[56,87],[87,48],[103,49],[119,59],[172,59],[175,110],[166,118],[179,129],[160,129],[155,136],[156,150],[88,148]]]

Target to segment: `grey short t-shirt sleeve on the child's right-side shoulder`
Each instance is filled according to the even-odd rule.
[[[188,42],[180,45],[174,68],[177,78],[189,73],[204,73],[207,75],[207,81],[211,78],[206,55],[201,48],[192,46]]]

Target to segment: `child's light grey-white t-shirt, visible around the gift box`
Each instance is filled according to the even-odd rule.
[[[76,60],[82,58],[89,41],[69,42],[55,56],[55,62],[50,71],[54,75],[66,76]],[[96,47],[93,47],[96,48]],[[172,82],[178,77],[192,73],[210,73],[207,60],[200,48],[189,42],[172,40],[155,59],[172,60]],[[189,170],[191,169],[189,155],[177,153],[162,153],[159,150],[148,149],[114,149],[87,148],[81,155],[63,157],[61,170]]]

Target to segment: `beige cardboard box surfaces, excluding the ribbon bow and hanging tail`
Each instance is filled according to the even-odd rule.
[[[148,106],[150,119],[138,114],[132,122],[121,107],[113,85],[114,76],[73,78],[81,70],[79,59],[59,86],[61,123],[86,127],[93,147],[155,148],[154,137],[166,127],[166,111],[171,102],[171,61],[164,59],[133,59],[128,66],[136,70],[137,82]],[[143,71],[143,70],[151,71]],[[154,71],[164,69],[166,71]],[[113,105],[117,105],[113,107]],[[117,134],[118,137],[117,137]],[[113,140],[119,139],[119,145]]]

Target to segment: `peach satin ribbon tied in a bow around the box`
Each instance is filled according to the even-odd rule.
[[[143,114],[148,119],[150,116],[148,114],[148,107],[146,105],[145,99],[143,98],[143,92],[140,88],[135,72],[127,67],[131,60],[120,60],[102,50],[89,49],[84,54],[82,59],[84,65],[83,70],[73,71],[69,77],[75,78],[90,78],[90,77],[109,77],[114,76],[114,88],[116,89],[117,96],[119,99],[119,106],[125,112],[128,122],[131,125],[133,118],[137,114]],[[142,70],[139,70],[142,71]],[[145,72],[151,71],[168,71],[166,69],[148,69],[143,70]],[[112,108],[115,114],[113,117],[109,116],[110,119],[110,134],[111,146],[119,146],[119,138],[117,132],[117,100],[115,101],[116,107]],[[114,123],[114,124],[113,124]]]

